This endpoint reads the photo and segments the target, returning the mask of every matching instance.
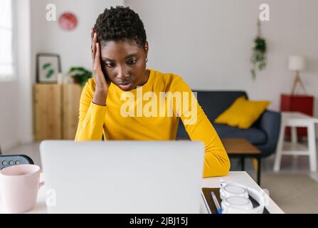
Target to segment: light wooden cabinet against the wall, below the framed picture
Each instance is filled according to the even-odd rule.
[[[35,140],[73,140],[82,89],[77,84],[34,85]]]

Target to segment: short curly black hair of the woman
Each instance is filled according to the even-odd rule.
[[[135,41],[144,47],[147,41],[142,20],[132,9],[124,6],[105,9],[98,16],[94,31],[101,44],[107,41]]]

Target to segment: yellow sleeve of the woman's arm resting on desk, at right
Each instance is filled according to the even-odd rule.
[[[198,104],[191,88],[180,77],[174,83],[174,92],[176,91],[184,93],[181,96],[181,102],[176,104],[176,108],[186,132],[191,140],[199,140],[205,144],[203,177],[228,175],[230,160],[218,133]],[[189,100],[185,100],[186,94],[189,94]]]

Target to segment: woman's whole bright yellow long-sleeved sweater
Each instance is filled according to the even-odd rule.
[[[103,134],[105,140],[175,140],[181,118],[191,140],[206,146],[203,177],[227,175],[226,150],[189,86],[175,74],[149,71],[147,83],[131,91],[111,83],[105,106],[92,103],[90,78],[80,97],[75,141],[102,140]]]

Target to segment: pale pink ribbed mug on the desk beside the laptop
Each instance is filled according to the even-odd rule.
[[[40,180],[38,165],[14,165],[0,171],[0,191],[4,210],[9,213],[27,212],[36,204]]]

